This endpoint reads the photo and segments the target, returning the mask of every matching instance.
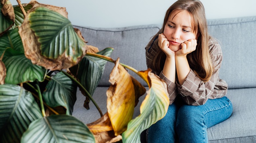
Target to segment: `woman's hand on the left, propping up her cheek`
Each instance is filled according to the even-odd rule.
[[[175,56],[175,52],[169,48],[170,42],[165,37],[165,35],[163,35],[163,33],[159,34],[159,36],[158,36],[158,45],[167,57]]]

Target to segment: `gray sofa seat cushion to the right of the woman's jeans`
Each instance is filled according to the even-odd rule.
[[[209,143],[256,142],[256,88],[229,89],[233,104],[229,119],[207,129]]]

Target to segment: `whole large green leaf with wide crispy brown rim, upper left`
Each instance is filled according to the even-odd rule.
[[[41,11],[37,11],[37,8],[41,8],[41,9],[47,8],[50,11],[55,11],[55,12],[59,13],[60,15],[64,16],[65,18],[68,18],[68,13],[66,11],[66,8],[55,7],[55,6],[51,6],[51,5],[44,5],[44,4],[39,4],[39,3],[35,2],[33,8],[31,8],[28,11],[23,24],[19,27],[19,34],[20,34],[21,40],[23,42],[25,56],[28,59],[30,59],[33,64],[43,66],[46,69],[50,69],[52,71],[70,68],[70,67],[78,64],[78,62],[86,54],[86,50],[87,50],[87,45],[84,42],[81,32],[78,29],[75,29],[76,35],[78,37],[78,39],[77,39],[75,35],[71,35],[71,34],[67,35],[68,32],[65,31],[66,35],[57,35],[56,37],[50,38],[49,46],[44,47],[46,49],[42,50],[43,49],[42,46],[45,46],[45,45],[40,43],[40,38],[44,38],[44,36],[39,37],[38,33],[33,31],[31,28],[32,22],[31,22],[30,14],[34,14],[35,12],[41,12]],[[46,13],[48,14],[49,12],[46,12]],[[56,14],[55,14],[55,16],[56,16]],[[45,18],[45,17],[46,17],[46,15],[41,16],[41,18]],[[53,23],[50,23],[50,24],[53,24]],[[54,23],[54,24],[58,24],[58,23]],[[37,25],[37,26],[41,26],[41,25]],[[49,26],[41,26],[37,29],[41,28],[41,30],[39,32],[42,32],[44,30],[49,31],[49,29],[43,29],[45,27],[49,27]],[[52,31],[54,31],[54,30],[52,30]],[[51,32],[49,32],[49,34],[50,33]],[[64,32],[61,31],[60,33],[63,34]],[[40,33],[40,34],[43,34],[43,33]],[[72,37],[73,40],[68,39],[71,36],[74,36],[74,37]],[[53,40],[53,41],[51,41],[51,40]],[[65,42],[64,42],[64,40],[65,40]],[[77,43],[70,45],[69,42],[73,42],[74,40],[77,40],[76,41]],[[62,45],[63,43],[64,43],[64,45]],[[53,56],[50,55],[53,52],[47,51],[47,50],[49,50],[48,48],[52,48],[50,50],[54,49],[54,47],[51,47],[51,46],[58,46],[57,50],[54,50],[55,55],[53,55]],[[61,53],[58,52],[58,50],[59,51],[63,50],[63,48],[64,48],[63,52],[61,52]],[[48,52],[48,55],[46,55],[45,53],[42,54],[43,52]],[[77,52],[79,52],[79,53],[77,53]],[[56,55],[57,55],[57,57],[56,57]]]

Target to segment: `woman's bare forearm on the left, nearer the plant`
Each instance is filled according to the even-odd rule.
[[[170,81],[175,83],[175,72],[176,72],[176,65],[175,65],[175,57],[166,57],[164,67],[163,67],[163,74],[167,77]]]

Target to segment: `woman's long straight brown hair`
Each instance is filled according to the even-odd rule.
[[[194,52],[187,55],[187,60],[190,68],[195,72],[195,74],[203,82],[207,82],[210,80],[214,69],[209,54],[208,41],[210,37],[208,36],[207,21],[203,4],[199,0],[176,1],[166,11],[162,26],[163,30],[172,11],[176,9],[187,10],[192,17],[193,30],[197,36],[197,47]],[[163,69],[165,59],[166,55],[162,50],[160,50],[160,48],[158,48],[157,55],[153,59],[154,68],[161,71]]]

